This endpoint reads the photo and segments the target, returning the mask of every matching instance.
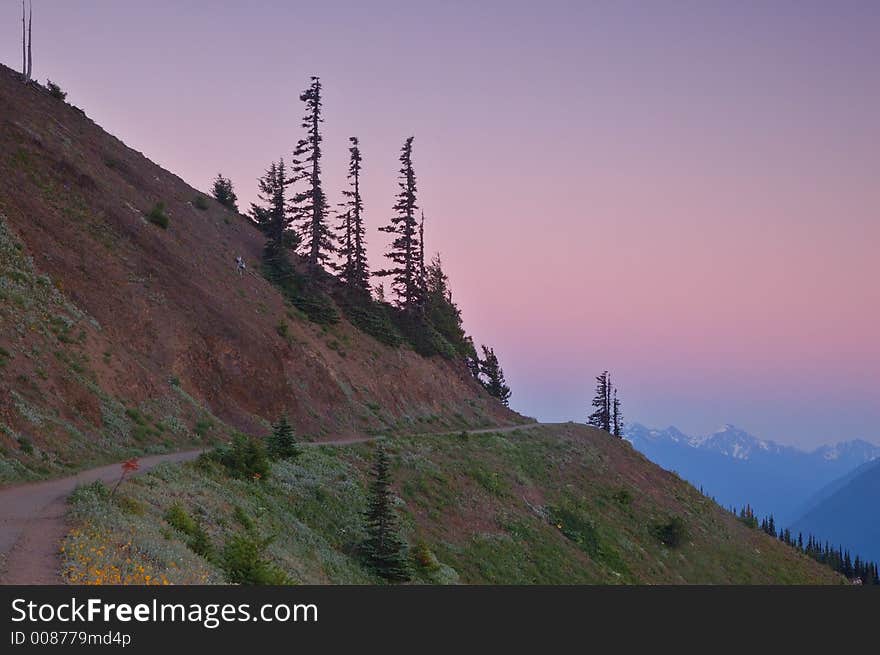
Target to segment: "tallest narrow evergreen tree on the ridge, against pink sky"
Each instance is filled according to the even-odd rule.
[[[293,198],[296,218],[300,221],[303,255],[312,278],[319,266],[334,252],[332,233],[327,225],[327,198],[321,187],[321,80],[312,77],[309,88],[299,97],[306,104],[302,127],[306,137],[300,139],[293,151],[293,178],[304,179],[307,188]]]

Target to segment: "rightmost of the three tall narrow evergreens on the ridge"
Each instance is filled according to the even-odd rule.
[[[377,271],[376,275],[392,280],[391,288],[397,296],[398,305],[409,312],[415,311],[419,305],[419,249],[416,224],[416,174],[412,163],[413,137],[409,137],[400,151],[400,175],[398,177],[399,192],[394,205],[395,215],[382,232],[394,234],[391,249],[386,257],[391,260],[392,268]]]

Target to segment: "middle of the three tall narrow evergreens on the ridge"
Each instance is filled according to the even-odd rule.
[[[350,188],[342,192],[345,201],[341,208],[344,219],[337,228],[340,231],[339,256],[343,259],[340,277],[350,289],[370,295],[370,269],[367,263],[366,230],[364,229],[364,202],[361,198],[361,156],[357,137],[349,137],[348,180]]]

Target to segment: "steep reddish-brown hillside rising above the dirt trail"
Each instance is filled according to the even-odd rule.
[[[311,438],[522,420],[463,364],[310,323],[254,272],[259,232],[199,195],[0,67],[0,483],[284,411]]]

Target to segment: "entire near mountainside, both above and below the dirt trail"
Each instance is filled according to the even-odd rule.
[[[606,433],[464,433],[523,419],[463,363],[315,325],[239,277],[261,235],[197,196],[0,69],[0,482],[262,434],[286,411],[309,440],[390,435],[420,581],[840,582]],[[159,202],[167,229],[147,220]],[[224,553],[274,537],[290,580],[373,582],[356,548],[373,447],[304,449],[268,478],[207,461],[81,488],[67,579],[220,582]],[[195,549],[182,516],[205,531]]]

